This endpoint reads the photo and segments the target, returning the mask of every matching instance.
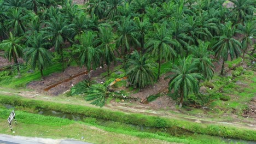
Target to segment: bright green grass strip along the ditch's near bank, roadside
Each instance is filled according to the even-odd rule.
[[[9,116],[9,113],[11,110],[7,109],[1,109],[0,108],[0,118],[7,118]],[[86,123],[86,122],[75,122],[71,121],[69,119],[63,119],[59,117],[52,117],[52,116],[43,116],[43,115],[38,115],[38,114],[33,114],[33,113],[27,113],[27,112],[22,112],[22,111],[15,111],[16,112],[16,119],[18,119],[18,124],[19,123],[24,123],[24,124],[37,124],[37,125],[45,125],[45,126],[51,126],[53,129],[54,127],[61,127],[63,125],[70,125],[70,124],[84,124],[84,125],[89,125],[93,127],[100,128],[105,131],[109,131],[112,133],[118,133],[118,134],[125,134],[125,135],[130,135],[130,136],[136,136],[142,139],[158,139],[158,140],[163,140],[163,141],[168,141],[168,142],[179,142],[179,143],[213,143],[213,142],[218,142],[218,143],[225,143],[215,137],[212,139],[207,139],[207,137],[174,137],[170,136],[167,134],[163,133],[147,133],[147,132],[141,132],[141,131],[134,131],[130,129],[122,129],[122,128],[112,128],[112,127],[104,127],[102,125],[97,125],[95,123]],[[73,126],[70,126],[73,127]],[[22,131],[20,131],[22,132]],[[68,133],[68,131],[67,131]]]

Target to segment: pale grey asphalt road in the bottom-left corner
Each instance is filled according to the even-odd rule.
[[[12,136],[0,134],[0,144],[91,144],[77,140],[54,140],[39,137]]]

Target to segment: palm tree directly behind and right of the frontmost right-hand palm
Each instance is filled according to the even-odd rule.
[[[210,56],[213,54],[212,51],[208,51],[210,43],[199,41],[199,46],[195,46],[193,53],[193,63],[198,68],[198,73],[202,74],[206,80],[212,79],[214,74],[214,61]]]

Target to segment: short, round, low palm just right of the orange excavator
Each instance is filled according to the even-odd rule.
[[[128,81],[134,87],[144,88],[154,83],[156,78],[156,73],[154,72],[156,64],[149,59],[148,55],[142,55],[138,51],[133,51],[126,63],[126,67]]]

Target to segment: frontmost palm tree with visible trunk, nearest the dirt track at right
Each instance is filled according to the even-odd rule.
[[[191,61],[191,56],[179,59],[179,65],[174,64],[170,70],[171,74],[166,76],[169,81],[169,92],[174,90],[174,94],[179,94],[181,100],[179,101],[179,108],[182,107],[183,99],[187,97],[189,92],[198,93],[199,81],[203,76],[195,73],[197,70],[196,64]]]

